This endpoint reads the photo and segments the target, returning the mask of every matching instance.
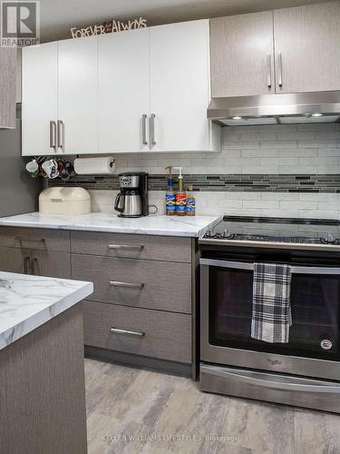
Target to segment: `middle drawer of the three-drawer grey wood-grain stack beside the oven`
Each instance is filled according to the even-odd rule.
[[[191,312],[189,263],[72,254],[72,277],[92,281],[92,301]]]

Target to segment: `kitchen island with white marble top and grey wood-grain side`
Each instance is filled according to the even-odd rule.
[[[0,452],[87,452],[79,301],[92,290],[0,272]]]

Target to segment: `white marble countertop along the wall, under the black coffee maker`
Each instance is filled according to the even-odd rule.
[[[218,222],[220,216],[146,216],[120,218],[115,214],[40,214],[30,212],[0,219],[0,225],[44,229],[80,230],[89,232],[140,233],[167,236],[199,237]]]

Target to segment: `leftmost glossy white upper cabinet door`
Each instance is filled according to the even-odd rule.
[[[50,121],[57,120],[57,44],[23,48],[22,154],[52,154]]]

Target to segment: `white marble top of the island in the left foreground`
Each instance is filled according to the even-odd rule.
[[[0,271],[0,350],[82,301],[92,282]]]

